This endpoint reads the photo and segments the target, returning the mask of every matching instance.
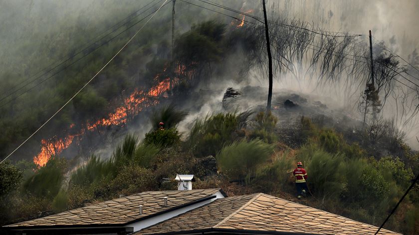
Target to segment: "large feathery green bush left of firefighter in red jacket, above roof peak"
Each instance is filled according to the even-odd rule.
[[[265,163],[272,152],[273,146],[261,140],[241,140],[222,148],[216,159],[219,169],[230,179],[249,183],[256,175],[257,166]]]

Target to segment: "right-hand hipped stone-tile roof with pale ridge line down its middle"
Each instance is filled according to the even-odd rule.
[[[197,232],[374,234],[377,227],[265,194],[217,199],[134,235]],[[399,235],[381,230],[381,235]]]

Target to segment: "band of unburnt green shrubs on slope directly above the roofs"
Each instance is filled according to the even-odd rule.
[[[166,116],[173,112],[178,111],[167,111]],[[69,173],[68,185],[63,183],[69,169],[64,159],[54,158],[32,173],[27,169],[33,165],[27,162],[20,162],[18,168],[4,164],[1,172],[14,173],[1,174],[1,182],[8,182],[2,184],[9,185],[4,187],[7,191],[1,197],[1,207],[12,208],[13,213],[3,216],[2,221],[28,218],[36,212],[61,212],[120,194],[174,189],[176,185],[162,183],[162,179],[177,173],[195,174],[196,188],[222,187],[232,195],[264,192],[293,197],[295,189],[289,172],[296,161],[301,161],[312,194],[304,199],[305,203],[378,225],[414,177],[412,161],[394,156],[367,157],[369,153],[360,145],[348,144],[343,134],[319,127],[307,117],[294,125],[294,141],[299,145],[290,148],[281,143],[278,119],[273,113],[251,115],[219,113],[198,119],[185,141],[180,139],[176,125],[151,130],[143,141],[128,134],[111,158],[91,156]],[[274,138],[255,138],[253,132],[257,129],[269,131]],[[214,169],[211,161],[216,162]],[[23,177],[23,172],[27,176]],[[22,178],[26,180],[22,182]],[[405,199],[403,211],[390,220],[389,229],[417,232],[417,190]]]

